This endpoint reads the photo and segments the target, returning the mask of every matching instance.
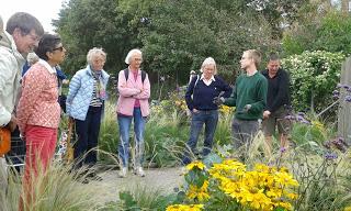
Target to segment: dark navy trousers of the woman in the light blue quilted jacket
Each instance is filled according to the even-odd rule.
[[[78,140],[75,143],[76,167],[94,165],[98,160],[97,147],[101,124],[102,107],[89,107],[84,121],[75,120]]]

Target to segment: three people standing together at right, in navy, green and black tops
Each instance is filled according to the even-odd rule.
[[[192,77],[185,93],[192,120],[190,138],[182,158],[183,165],[188,165],[196,156],[196,143],[204,124],[205,134],[201,156],[211,153],[220,104],[236,107],[231,135],[233,146],[238,149],[239,158],[245,158],[262,120],[269,156],[272,152],[272,135],[275,127],[279,130],[281,147],[288,146],[287,135],[291,123],[285,119],[291,110],[288,75],[281,68],[276,54],[270,55],[267,69],[263,71],[258,70],[260,62],[261,54],[258,51],[244,52],[240,66],[245,71],[236,79],[233,90],[216,76],[216,63],[212,57],[203,62],[202,75]]]

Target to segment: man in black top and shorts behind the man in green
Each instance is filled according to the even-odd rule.
[[[290,78],[288,74],[281,68],[280,58],[276,54],[271,54],[267,69],[262,75],[268,80],[267,107],[263,112],[263,132],[269,153],[272,148],[272,135],[278,127],[281,147],[287,146],[287,135],[291,123],[285,119],[290,113]]]

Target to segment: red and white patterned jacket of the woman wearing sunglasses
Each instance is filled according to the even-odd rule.
[[[22,80],[22,95],[16,109],[21,134],[26,125],[57,129],[60,107],[55,68],[39,60],[31,67]]]

